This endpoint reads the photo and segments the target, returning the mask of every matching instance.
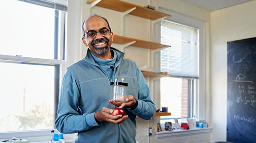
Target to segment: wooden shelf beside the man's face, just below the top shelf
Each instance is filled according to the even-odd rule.
[[[119,35],[114,35],[113,43],[127,44],[127,43],[130,43],[130,42],[133,42],[133,41],[135,41],[135,43],[131,44],[130,46],[140,47],[140,48],[149,48],[149,49],[171,47],[169,45],[162,45],[162,44],[155,43],[155,42],[138,40],[138,39],[128,38],[128,37],[119,36]]]

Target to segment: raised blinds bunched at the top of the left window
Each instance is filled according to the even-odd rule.
[[[67,11],[67,0],[20,0],[56,10]]]

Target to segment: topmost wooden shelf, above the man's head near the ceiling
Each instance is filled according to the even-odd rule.
[[[89,0],[87,1],[87,4],[91,4],[95,1],[96,0]],[[126,12],[136,7],[136,9],[131,11],[129,14],[150,20],[157,20],[165,16],[171,16],[153,9],[145,8],[122,0],[101,0],[96,4],[96,6],[112,9],[119,12]]]

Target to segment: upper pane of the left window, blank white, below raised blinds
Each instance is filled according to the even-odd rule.
[[[54,59],[54,9],[1,0],[0,54]]]

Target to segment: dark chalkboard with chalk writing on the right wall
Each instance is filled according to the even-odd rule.
[[[226,140],[256,143],[256,37],[227,42]]]

